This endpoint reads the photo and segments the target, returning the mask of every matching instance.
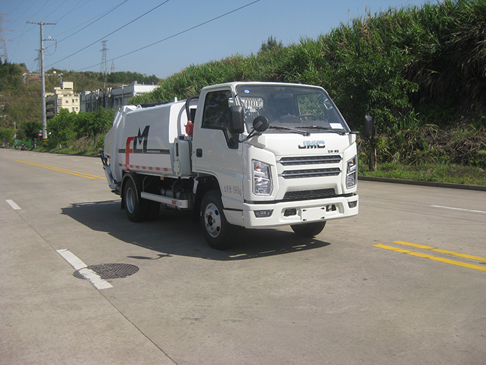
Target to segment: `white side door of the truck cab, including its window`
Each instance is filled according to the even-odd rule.
[[[196,119],[200,126],[195,126],[193,135],[193,170],[215,176],[225,207],[237,208],[243,201],[243,146],[229,131],[233,94],[225,88],[204,97],[202,119]]]

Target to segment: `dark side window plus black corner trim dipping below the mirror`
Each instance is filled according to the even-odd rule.
[[[202,114],[202,128],[222,130],[227,146],[238,149],[238,135],[232,135],[228,129],[230,105],[233,105],[233,96],[229,90],[207,94],[204,113]]]

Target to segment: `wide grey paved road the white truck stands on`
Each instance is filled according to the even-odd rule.
[[[486,193],[358,192],[220,252],[191,214],[128,221],[97,158],[0,149],[0,364],[485,364]]]

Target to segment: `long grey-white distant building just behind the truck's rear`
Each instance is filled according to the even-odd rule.
[[[80,109],[83,112],[97,112],[101,107],[118,109],[128,105],[133,96],[146,94],[159,85],[144,85],[134,81],[132,85],[108,87],[106,90],[85,91],[80,94]]]

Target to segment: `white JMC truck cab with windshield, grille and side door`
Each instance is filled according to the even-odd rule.
[[[214,85],[198,105],[192,169],[216,179],[229,224],[315,235],[358,213],[356,134],[321,87]]]

